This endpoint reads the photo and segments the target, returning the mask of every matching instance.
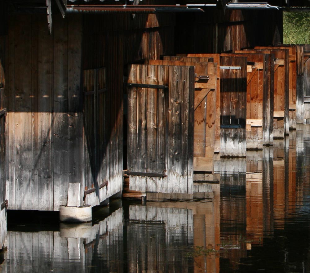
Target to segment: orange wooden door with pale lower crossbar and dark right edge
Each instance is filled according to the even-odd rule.
[[[223,53],[247,58],[246,148],[263,149],[273,143],[273,58],[270,54]]]

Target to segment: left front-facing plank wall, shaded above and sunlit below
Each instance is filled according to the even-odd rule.
[[[83,189],[82,17],[9,18],[9,208],[59,210],[69,182]]]

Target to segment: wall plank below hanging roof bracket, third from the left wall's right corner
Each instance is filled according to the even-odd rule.
[[[40,210],[53,210],[53,43],[44,25],[38,36],[38,155],[36,157]]]

